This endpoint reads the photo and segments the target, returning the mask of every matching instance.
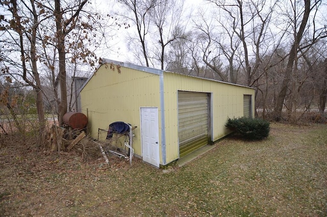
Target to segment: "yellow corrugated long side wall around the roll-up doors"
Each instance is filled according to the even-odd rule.
[[[167,163],[178,158],[178,91],[212,93],[212,132],[209,133],[213,141],[230,133],[225,127],[228,117],[243,116],[243,96],[251,95],[254,100],[254,89],[170,72],[164,73],[164,90]]]

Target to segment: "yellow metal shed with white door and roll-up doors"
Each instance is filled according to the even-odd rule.
[[[228,135],[228,118],[254,116],[253,88],[108,59],[80,95],[91,137],[115,121],[137,126],[134,155],[156,167]]]

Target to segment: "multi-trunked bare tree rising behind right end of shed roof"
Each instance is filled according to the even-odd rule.
[[[269,43],[266,42],[267,37],[271,36],[268,27],[276,2],[239,0],[231,1],[229,4],[217,0],[208,2],[214,3],[217,7],[215,17],[222,31],[220,39],[216,42],[228,61],[229,81],[237,83],[238,68],[243,66],[244,84],[254,85],[261,56],[269,47]],[[255,56],[254,61],[251,61],[252,55]],[[235,64],[236,59],[239,61],[238,64]]]

